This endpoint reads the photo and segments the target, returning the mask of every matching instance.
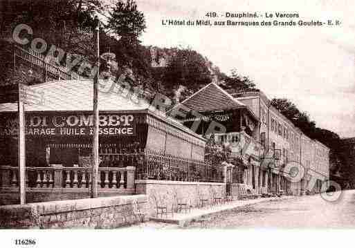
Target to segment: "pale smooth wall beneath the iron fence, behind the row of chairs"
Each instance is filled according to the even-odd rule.
[[[213,190],[218,196],[226,195],[226,184],[222,182],[181,182],[164,180],[136,180],[136,193],[147,195],[147,213],[156,216],[156,205],[166,205],[168,211],[179,202],[187,202],[193,207],[199,204],[199,198],[207,198],[212,203]]]

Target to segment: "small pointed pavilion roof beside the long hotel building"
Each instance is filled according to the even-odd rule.
[[[197,111],[221,111],[231,108],[245,108],[246,105],[232,97],[215,83],[210,83],[185,99],[181,104]]]

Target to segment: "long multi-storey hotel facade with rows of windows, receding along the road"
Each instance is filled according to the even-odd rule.
[[[290,163],[302,166],[304,176],[299,182],[291,183],[293,194],[319,192],[322,182],[329,180],[329,148],[304,135],[300,128],[271,105],[271,100],[261,90],[231,92],[231,95],[250,106],[260,117],[259,139],[268,151],[275,151],[276,156],[280,156],[275,161],[277,168],[282,169]]]

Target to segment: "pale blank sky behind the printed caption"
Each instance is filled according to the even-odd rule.
[[[222,72],[247,75],[271,99],[285,97],[320,128],[355,136],[355,1],[136,0],[144,45],[191,47]],[[163,26],[162,19],[210,19],[207,12],[291,12],[338,19],[338,27]],[[221,19],[221,18],[216,18]],[[282,19],[278,19],[282,21]],[[298,21],[298,19],[295,19]],[[238,19],[235,19],[238,21]],[[255,21],[261,21],[255,19]]]

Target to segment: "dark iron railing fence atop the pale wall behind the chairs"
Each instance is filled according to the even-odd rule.
[[[223,166],[213,165],[206,161],[192,160],[178,155],[166,154],[163,151],[134,149],[120,151],[105,148],[100,150],[100,159],[104,166],[136,167],[137,179],[223,182]]]

